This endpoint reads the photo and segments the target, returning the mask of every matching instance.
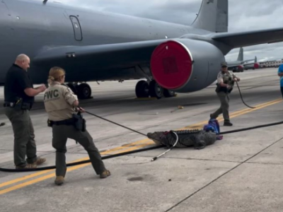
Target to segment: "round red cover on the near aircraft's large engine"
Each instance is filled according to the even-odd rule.
[[[175,41],[158,45],[151,55],[151,72],[163,88],[182,87],[192,74],[192,57],[189,50]]]

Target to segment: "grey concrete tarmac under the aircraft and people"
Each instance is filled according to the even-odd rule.
[[[231,94],[233,126],[221,131],[280,122],[282,95],[277,69],[236,73],[250,109],[241,102],[238,88]],[[136,99],[137,81],[91,83],[93,99],[81,102],[113,122],[146,134],[171,129],[202,128],[209,114],[219,107],[215,83],[195,93],[178,93],[175,98]],[[3,88],[0,90],[3,101]],[[51,129],[42,95],[36,98],[31,118],[35,127],[38,155],[47,158],[42,166],[54,165]],[[183,110],[177,110],[182,105]],[[173,111],[173,112],[172,112]],[[84,114],[87,129],[101,154],[112,155],[154,146],[140,134]],[[14,168],[13,131],[0,108],[0,166]],[[88,164],[68,168],[66,182],[54,184],[54,170],[0,172],[0,211],[193,211],[240,212],[282,211],[283,202],[282,125],[225,134],[224,139],[197,151],[174,148],[134,153],[104,160],[112,175],[100,179]],[[67,163],[87,160],[79,144],[67,143]]]

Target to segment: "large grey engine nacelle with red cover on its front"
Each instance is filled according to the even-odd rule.
[[[209,42],[175,39],[163,42],[151,55],[151,73],[163,88],[187,93],[212,84],[225,61]]]

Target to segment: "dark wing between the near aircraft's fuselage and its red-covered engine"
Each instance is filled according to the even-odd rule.
[[[62,66],[64,69],[129,68],[149,64],[154,49],[166,40],[127,42],[110,45],[48,47],[33,58],[36,66]],[[88,72],[89,73],[89,72]]]

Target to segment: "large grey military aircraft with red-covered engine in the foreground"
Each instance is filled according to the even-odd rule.
[[[18,54],[31,59],[33,83],[46,83],[52,66],[67,71],[79,98],[88,81],[137,83],[137,97],[172,97],[216,80],[233,48],[283,41],[283,28],[227,33],[228,0],[203,0],[191,25],[167,23],[48,0],[0,1],[0,83]]]

